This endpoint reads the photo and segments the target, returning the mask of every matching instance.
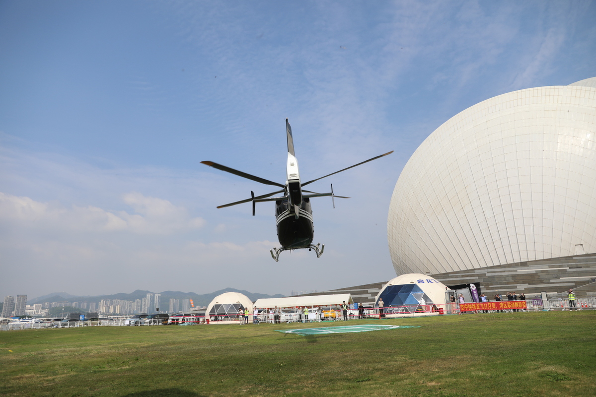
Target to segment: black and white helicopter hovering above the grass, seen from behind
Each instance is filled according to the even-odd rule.
[[[251,191],[249,199],[219,205],[219,207],[217,208],[231,207],[232,205],[243,204],[245,202],[252,202],[254,216],[254,211],[257,202],[275,201],[275,221],[277,223],[277,237],[280,241],[281,248],[274,247],[273,249],[269,250],[269,252],[271,252],[271,257],[277,262],[279,261],[280,254],[283,251],[308,248],[309,251],[314,250],[316,253],[316,257],[320,258],[325,249],[325,245],[321,245],[321,243],[317,243],[316,245],[314,245],[312,243],[312,240],[314,238],[314,225],[312,220],[311,198],[331,196],[333,208],[335,208],[334,198],[349,197],[335,195],[333,193],[333,184],[331,184],[330,193],[311,192],[310,190],[303,190],[302,187],[310,185],[311,183],[326,178],[328,176],[349,170],[353,167],[357,167],[358,165],[362,165],[365,162],[377,160],[377,158],[381,158],[386,155],[392,154],[393,151],[381,154],[380,156],[370,158],[368,160],[359,162],[358,164],[351,165],[347,168],[343,168],[343,170],[335,171],[334,173],[327,174],[325,176],[312,179],[308,182],[303,183],[300,180],[298,160],[296,159],[296,154],[294,153],[294,140],[292,137],[292,129],[287,118],[285,118],[285,130],[287,134],[288,143],[288,161],[286,166],[287,180],[285,181],[285,184],[272,182],[271,180],[247,174],[243,171],[234,170],[234,168],[229,168],[225,165],[221,165],[213,161],[201,161],[201,163],[216,168],[217,170],[226,171],[228,173],[253,180],[254,182],[281,187],[281,190],[276,190],[275,192],[267,193],[265,195],[260,196],[255,196],[254,192]],[[271,197],[279,193],[282,193],[282,195],[277,197]]]

